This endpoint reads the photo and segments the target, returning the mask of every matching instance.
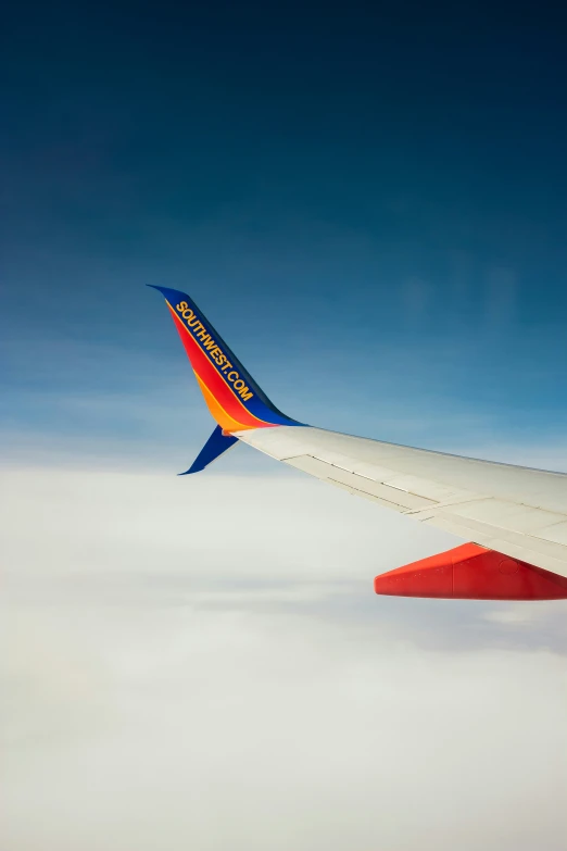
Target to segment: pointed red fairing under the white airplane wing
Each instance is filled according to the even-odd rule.
[[[377,576],[374,589],[396,597],[566,600],[567,578],[477,543],[464,543]]]

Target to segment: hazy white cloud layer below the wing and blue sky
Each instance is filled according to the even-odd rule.
[[[7,851],[560,851],[565,605],[377,598],[454,545],[318,483],[4,471]]]

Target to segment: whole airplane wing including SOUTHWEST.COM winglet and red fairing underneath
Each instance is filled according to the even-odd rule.
[[[378,593],[567,599],[567,475],[385,443],[291,420],[269,401],[189,296],[155,289],[166,299],[217,422],[212,437],[218,436],[218,449],[207,449],[206,463],[201,453],[189,472],[203,470],[236,438],[470,542],[376,577]]]

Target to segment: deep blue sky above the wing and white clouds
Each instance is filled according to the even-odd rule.
[[[169,434],[192,441],[194,421],[200,442],[158,283],[303,421],[489,454],[562,443],[560,27],[403,5],[133,12],[9,13],[7,431],[159,440],[131,395],[133,412],[179,405]]]

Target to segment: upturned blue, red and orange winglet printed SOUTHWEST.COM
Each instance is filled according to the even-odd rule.
[[[167,287],[149,286],[165,298],[201,392],[222,431],[302,425],[269,401],[189,296]],[[191,472],[197,471],[188,471]]]

